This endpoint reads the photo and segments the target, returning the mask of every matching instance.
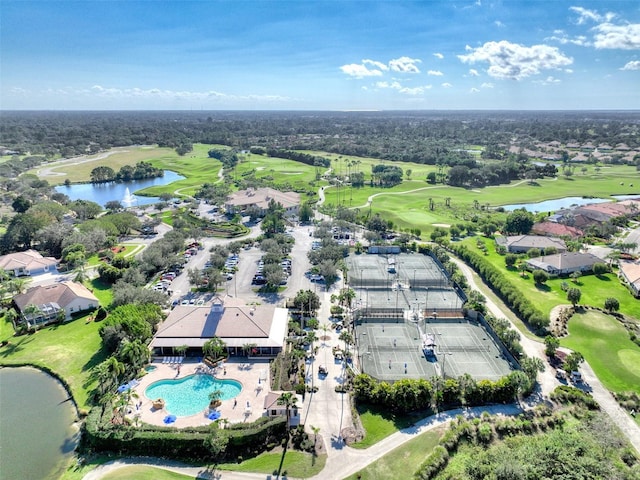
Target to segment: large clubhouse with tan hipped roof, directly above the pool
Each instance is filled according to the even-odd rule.
[[[218,337],[229,355],[275,357],[284,346],[287,325],[286,308],[216,297],[211,305],[176,306],[159,325],[150,347],[155,355],[170,355],[186,345],[189,353],[202,355],[203,345]],[[248,345],[251,351],[245,352]]]

